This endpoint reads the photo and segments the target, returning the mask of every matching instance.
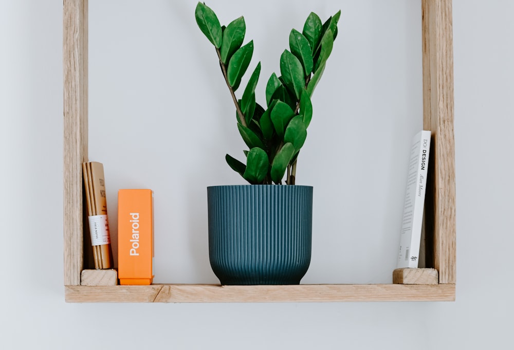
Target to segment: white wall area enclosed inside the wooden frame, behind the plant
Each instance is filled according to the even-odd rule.
[[[311,10],[323,19],[343,13],[298,161],[298,183],[315,186],[316,203],[304,282],[391,282],[409,143],[423,120],[420,2],[274,2],[211,5],[224,24],[245,14],[251,71],[262,61],[256,96],[263,105],[291,28],[302,30]],[[111,213],[119,188],[154,190],[156,282],[217,281],[208,262],[206,187],[245,183],[225,163],[226,153],[243,158],[246,146],[195,5],[89,5],[89,159],[105,165]]]

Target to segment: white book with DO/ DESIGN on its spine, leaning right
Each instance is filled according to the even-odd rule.
[[[427,187],[430,135],[430,131],[423,130],[412,139],[397,268],[418,267],[423,208],[425,206]]]

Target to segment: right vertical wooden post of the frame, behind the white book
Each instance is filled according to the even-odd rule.
[[[427,188],[427,231],[439,283],[455,276],[455,147],[453,136],[453,34],[451,0],[422,0],[425,130],[432,131]]]

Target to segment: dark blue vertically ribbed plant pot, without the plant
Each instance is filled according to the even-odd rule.
[[[207,188],[209,258],[222,285],[299,284],[310,264],[313,188]]]

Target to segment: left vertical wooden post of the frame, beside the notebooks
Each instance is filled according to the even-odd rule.
[[[63,3],[64,284],[83,267],[82,165],[87,161],[87,0]]]

